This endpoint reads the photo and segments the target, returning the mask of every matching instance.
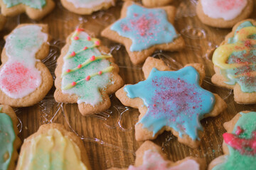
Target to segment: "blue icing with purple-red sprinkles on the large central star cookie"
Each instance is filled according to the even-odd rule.
[[[199,74],[193,67],[184,67],[176,72],[151,70],[148,79],[138,84],[127,85],[124,91],[129,98],[142,98],[148,108],[139,120],[143,128],[155,135],[164,126],[186,134],[192,140],[203,130],[200,120],[210,113],[215,96],[198,84]]]

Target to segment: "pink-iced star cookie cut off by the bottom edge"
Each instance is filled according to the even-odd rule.
[[[206,169],[206,162],[195,157],[186,157],[178,162],[171,162],[166,159],[166,155],[161,147],[154,142],[146,141],[137,149],[134,166],[130,165],[127,170],[203,170]],[[119,170],[112,168],[108,170]],[[124,169],[123,169],[124,170]],[[126,170],[126,169],[125,169]]]

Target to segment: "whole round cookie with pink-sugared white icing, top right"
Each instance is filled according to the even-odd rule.
[[[253,0],[199,0],[196,13],[202,23],[216,28],[232,28],[250,16]]]

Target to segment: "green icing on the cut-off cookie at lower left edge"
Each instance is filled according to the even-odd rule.
[[[14,152],[14,140],[16,135],[14,125],[9,115],[0,113],[0,169],[6,170],[11,161],[11,155]],[[8,157],[6,157],[8,155]],[[5,160],[4,157],[7,159]]]

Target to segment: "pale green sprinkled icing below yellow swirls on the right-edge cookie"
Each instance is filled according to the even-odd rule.
[[[244,23],[241,23],[240,26],[235,30],[236,33],[241,30],[242,28],[251,27],[253,26],[250,21],[245,21]],[[238,42],[239,40],[235,37],[229,38],[228,44],[234,44]],[[252,40],[256,40],[256,35],[250,35],[247,37]],[[226,78],[228,81],[226,81],[226,84],[235,85],[238,83],[241,87],[241,90],[245,93],[252,93],[256,91],[256,77],[248,77],[246,74],[250,74],[250,72],[256,71],[256,46],[252,45],[250,47],[250,51],[246,52],[246,50],[241,50],[238,52],[233,52],[230,57],[228,58],[228,64],[234,64],[234,63],[249,63],[245,64],[242,67],[238,67],[235,69],[222,69],[220,72],[224,75],[226,75]],[[238,74],[243,74],[239,77],[237,77]]]

